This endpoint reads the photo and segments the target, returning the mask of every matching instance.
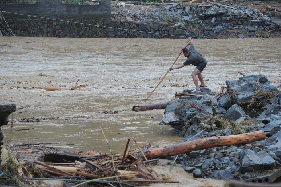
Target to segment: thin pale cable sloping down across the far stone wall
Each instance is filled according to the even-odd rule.
[[[34,16],[34,15],[26,15],[26,14],[19,14],[19,13],[13,13],[13,12],[6,12],[5,13],[10,13],[10,14],[16,14],[16,15],[24,15],[24,16],[30,16],[30,17],[37,17],[37,18],[42,18],[42,19],[47,19],[47,20],[56,20],[56,21],[61,21],[61,22],[69,22],[69,23],[76,23],[76,24],[83,24],[83,25],[91,25],[91,26],[97,26],[97,27],[105,27],[105,28],[114,28],[114,29],[120,29],[120,30],[128,30],[128,31],[136,31],[136,32],[144,32],[144,33],[149,33],[149,34],[160,34],[160,33],[155,33],[155,32],[146,32],[146,31],[139,31],[139,30],[132,30],[132,29],[123,29],[123,28],[116,28],[116,27],[109,27],[109,26],[100,26],[100,25],[94,25],[94,24],[86,24],[86,23],[80,23],[80,22],[72,22],[72,21],[66,21],[66,20],[58,20],[58,19],[53,19],[53,18],[48,18],[48,17],[40,17],[40,16]],[[177,36],[177,35],[171,35],[171,34],[161,34],[165,36],[175,36],[175,37],[182,37],[182,38],[192,38],[192,39],[199,39],[199,38],[193,38],[193,37],[187,37],[187,36]]]

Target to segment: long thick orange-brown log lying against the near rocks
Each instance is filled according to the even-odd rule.
[[[211,147],[241,145],[245,143],[251,143],[254,141],[260,141],[265,139],[264,131],[255,131],[252,133],[243,133],[240,135],[220,136],[197,139],[194,141],[179,143],[176,145],[170,145],[165,147],[159,147],[150,149],[144,152],[147,159],[163,158],[166,156],[179,155],[191,151],[203,150]],[[135,157],[142,158],[143,155],[138,152]]]

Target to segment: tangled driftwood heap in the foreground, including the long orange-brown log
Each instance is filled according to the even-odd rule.
[[[102,128],[101,128],[102,130]],[[103,133],[103,131],[102,131]],[[104,134],[104,133],[103,133]],[[18,180],[19,184],[30,184],[36,186],[34,180],[65,180],[71,185],[79,186],[83,183],[93,182],[99,186],[120,184],[121,186],[136,186],[150,183],[178,183],[178,181],[167,180],[166,177],[156,173],[151,164],[159,158],[167,158],[172,155],[182,154],[194,150],[202,150],[210,147],[220,147],[227,145],[240,145],[253,141],[263,140],[264,131],[244,133],[223,137],[210,137],[194,141],[179,143],[167,147],[149,149],[150,146],[142,148],[133,138],[139,152],[130,151],[130,139],[128,139],[123,153],[101,153],[89,152],[59,152],[63,146],[47,144],[22,144],[13,146],[24,159],[34,159],[31,154],[38,156],[44,153],[44,159],[40,161],[25,161],[20,164],[17,159],[7,158],[7,167],[2,166],[1,172],[4,178]],[[106,137],[106,142],[108,143]],[[64,145],[64,146],[68,146]],[[53,152],[53,153],[52,153]],[[149,159],[149,160],[148,160]],[[10,165],[15,168],[10,172]],[[5,170],[4,168],[7,168]],[[21,182],[21,183],[20,183]],[[75,182],[75,183],[73,183]]]

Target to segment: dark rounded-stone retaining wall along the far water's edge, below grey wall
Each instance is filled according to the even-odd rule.
[[[16,36],[43,36],[43,37],[72,37],[72,38],[179,38],[185,35],[185,30],[174,30],[167,22],[151,22],[139,23],[132,20],[117,20],[117,21],[82,21],[85,24],[93,24],[97,26],[69,23],[52,20],[24,20],[16,21],[6,20],[9,22],[9,27]],[[2,23],[5,25],[4,20]],[[114,27],[105,28],[102,26]],[[115,28],[116,27],[116,28]],[[121,29],[127,30],[121,30]],[[145,32],[141,32],[145,31]],[[7,32],[7,30],[6,30]],[[152,32],[152,33],[146,33]],[[4,33],[3,33],[4,34]],[[167,36],[163,34],[175,34],[175,36]]]

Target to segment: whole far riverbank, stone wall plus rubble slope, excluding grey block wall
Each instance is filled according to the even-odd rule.
[[[218,3],[219,2],[219,3]],[[254,9],[243,3],[216,1],[112,5],[111,21],[11,19],[6,36],[71,38],[271,38],[280,37],[278,12]],[[221,3],[221,4],[220,4]],[[137,5],[135,5],[137,4]],[[129,5],[126,6],[126,5]],[[231,6],[228,6],[231,5]],[[279,4],[274,4],[279,6]],[[4,13],[5,16],[5,13]],[[279,17],[278,17],[279,16]],[[8,28],[4,20],[2,24]]]

